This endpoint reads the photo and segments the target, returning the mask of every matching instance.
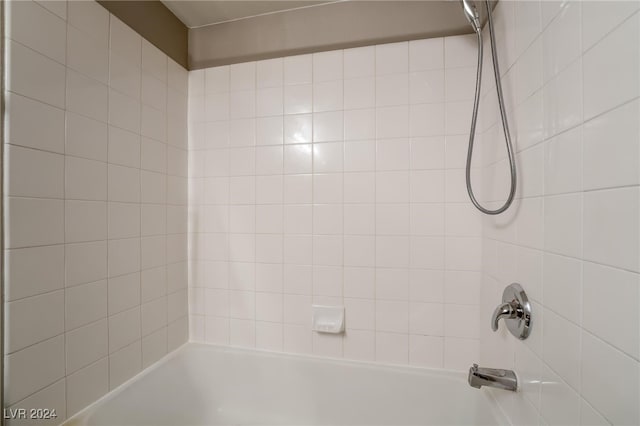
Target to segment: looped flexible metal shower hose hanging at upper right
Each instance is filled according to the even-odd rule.
[[[476,31],[478,39],[478,71],[476,73],[476,94],[473,102],[473,115],[471,117],[471,131],[469,133],[469,150],[467,151],[467,167],[466,167],[466,181],[467,181],[467,193],[473,205],[484,214],[496,215],[504,212],[513,203],[513,198],[516,194],[516,161],[515,154],[513,152],[513,145],[511,143],[511,134],[509,133],[509,123],[507,122],[507,113],[504,106],[504,96],[502,94],[502,83],[500,81],[500,69],[498,67],[498,56],[496,53],[496,40],[493,32],[493,21],[491,20],[491,6],[489,0],[485,0],[485,6],[487,8],[487,18],[489,21],[489,37],[491,39],[491,56],[493,59],[493,74],[496,80],[496,91],[498,92],[498,104],[500,105],[500,116],[502,118],[502,129],[504,130],[505,143],[507,145],[507,155],[509,157],[509,168],[511,172],[511,189],[509,190],[509,196],[502,205],[502,207],[496,210],[490,210],[483,207],[476,199],[473,193],[473,187],[471,186],[471,159],[473,157],[473,142],[476,133],[476,122],[478,120],[478,105],[480,104],[480,88],[482,85],[482,31]]]

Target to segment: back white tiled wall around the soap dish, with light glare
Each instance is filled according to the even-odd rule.
[[[475,61],[462,36],[190,72],[192,339],[476,360]],[[311,331],[312,304],[346,307],[344,337]]]

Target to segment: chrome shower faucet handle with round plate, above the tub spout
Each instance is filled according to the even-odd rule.
[[[491,329],[498,331],[498,323],[501,319],[515,337],[524,340],[531,333],[531,303],[522,286],[513,283],[507,286],[502,293],[502,304],[499,305],[491,316]]]

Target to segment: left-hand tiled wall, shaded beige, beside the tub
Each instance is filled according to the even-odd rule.
[[[188,77],[97,3],[6,4],[6,403],[59,423],[188,337]]]

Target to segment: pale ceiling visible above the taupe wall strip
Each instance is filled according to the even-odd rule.
[[[335,0],[333,0],[335,1]],[[162,0],[187,27],[195,28],[250,16],[281,12],[333,1],[314,0]]]

